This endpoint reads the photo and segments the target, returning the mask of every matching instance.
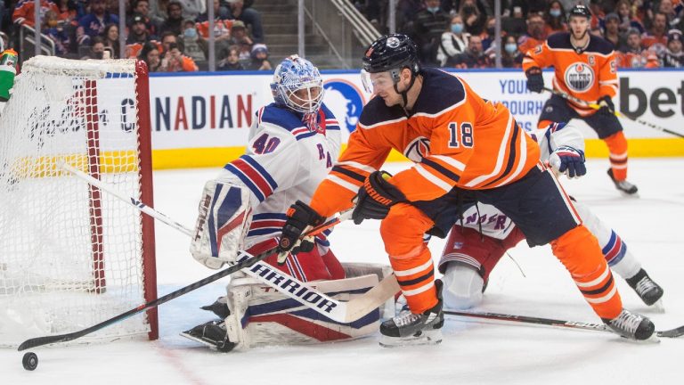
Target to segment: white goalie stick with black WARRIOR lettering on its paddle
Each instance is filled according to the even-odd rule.
[[[152,209],[151,207],[142,203],[142,201],[138,201],[133,197],[119,193],[109,184],[102,183],[102,181],[99,179],[89,176],[64,162],[58,162],[58,166],[60,168],[64,168],[75,176],[84,179],[86,182],[98,187],[100,190],[111,193],[121,201],[127,202],[134,208],[139,209],[150,217],[153,217],[162,223],[175,228],[185,235],[192,236],[191,229],[179,224],[175,220],[171,219],[171,217],[159,212],[157,209]],[[334,224],[330,224],[329,227],[337,225],[338,223],[346,220],[351,216],[351,213],[351,209],[343,211],[338,217],[336,217],[337,221]],[[319,230],[318,233],[322,232],[322,230]],[[316,312],[341,323],[350,323],[361,318],[363,315],[371,313],[371,311],[382,305],[385,301],[387,301],[387,299],[392,298],[392,296],[394,296],[395,293],[400,290],[394,275],[389,275],[370,291],[366,291],[362,295],[355,297],[348,302],[343,302],[330,298],[321,291],[315,290],[306,283],[298,281],[297,278],[286,274],[279,269],[273,268],[273,266],[265,264],[261,262],[261,260],[257,261],[249,268],[244,269],[243,272],[271,286],[276,291],[280,291],[289,298],[297,300],[305,307],[310,307]]]

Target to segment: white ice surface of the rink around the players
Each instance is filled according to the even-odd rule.
[[[682,143],[684,145],[684,142]],[[407,164],[388,164],[395,172]],[[588,160],[589,173],[567,181],[664,287],[664,313],[647,308],[617,278],[625,307],[650,316],[656,329],[684,324],[684,159],[631,159],[639,197],[623,197],[606,175],[607,160]],[[204,182],[216,169],[156,171],[154,206],[191,226]],[[338,225],[331,247],[343,262],[387,263],[377,221]],[[156,224],[159,295],[212,271],[191,258],[188,239]],[[444,241],[433,239],[438,258]],[[524,243],[493,270],[478,311],[598,323],[548,247]],[[517,262],[514,262],[515,261]],[[519,268],[518,266],[519,265]],[[675,384],[681,383],[684,337],[637,344],[612,333],[449,316],[438,346],[380,348],[378,335],[305,347],[216,353],[178,335],[212,319],[199,306],[224,292],[209,284],[159,307],[160,338],[35,348],[34,372],[23,352],[0,349],[0,384]]]

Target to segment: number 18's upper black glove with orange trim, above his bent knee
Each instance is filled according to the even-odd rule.
[[[352,213],[354,224],[359,225],[363,219],[384,219],[390,207],[406,201],[403,193],[387,182],[389,177],[391,175],[385,171],[375,171],[366,178],[356,195],[356,207]]]

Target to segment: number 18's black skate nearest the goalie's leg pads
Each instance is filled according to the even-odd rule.
[[[422,314],[404,311],[380,324],[380,346],[432,345],[442,342],[442,281],[436,280],[438,302]]]

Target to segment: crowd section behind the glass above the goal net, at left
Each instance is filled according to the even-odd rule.
[[[261,14],[253,0],[214,0],[217,70],[271,70]],[[126,0],[124,57],[151,72],[208,69],[206,0]],[[0,2],[5,47],[19,45],[22,25],[35,28],[34,0]],[[41,32],[55,54],[71,59],[121,57],[118,0],[41,0]]]

